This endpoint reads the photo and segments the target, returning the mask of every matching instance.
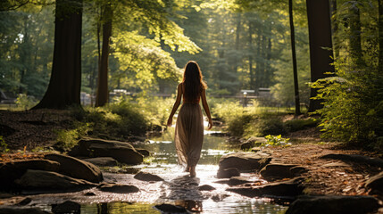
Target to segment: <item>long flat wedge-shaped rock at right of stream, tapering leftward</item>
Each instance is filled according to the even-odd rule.
[[[303,178],[297,177],[288,181],[281,181],[267,185],[244,186],[226,189],[229,192],[238,193],[247,197],[269,197],[276,199],[295,199],[301,194],[304,187],[301,185]]]

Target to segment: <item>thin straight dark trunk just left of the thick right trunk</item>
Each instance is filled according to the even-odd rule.
[[[288,14],[290,17],[291,54],[293,58],[294,95],[296,102],[296,115],[301,114],[299,101],[298,70],[296,68],[296,30],[294,29],[293,0],[288,0]]]

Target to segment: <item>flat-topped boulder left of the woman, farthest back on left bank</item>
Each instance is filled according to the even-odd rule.
[[[80,140],[69,154],[85,157],[112,157],[127,164],[139,164],[144,161],[143,155],[129,143],[93,138]]]

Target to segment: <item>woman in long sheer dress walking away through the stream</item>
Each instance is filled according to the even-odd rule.
[[[196,177],[196,164],[199,161],[204,141],[204,120],[199,105],[200,98],[209,119],[208,128],[212,128],[212,116],[206,103],[206,88],[198,64],[194,61],[187,62],[184,78],[177,88],[177,99],[168,119],[168,127],[171,127],[174,113],[179,108],[182,97],[183,103],[176,122],[174,141],[179,164],[187,165],[186,171],[190,173],[190,177]]]

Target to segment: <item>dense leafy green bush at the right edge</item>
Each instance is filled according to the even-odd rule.
[[[316,111],[323,136],[372,149],[383,136],[382,76],[373,65],[355,67],[346,59],[338,59],[335,67],[335,77],[312,84],[320,92],[315,99],[324,100]]]

